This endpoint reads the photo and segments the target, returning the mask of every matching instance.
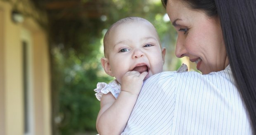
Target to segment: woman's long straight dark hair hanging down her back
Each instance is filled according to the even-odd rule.
[[[161,0],[166,7],[167,0]],[[183,0],[191,9],[220,19],[225,48],[237,88],[256,134],[256,1]]]

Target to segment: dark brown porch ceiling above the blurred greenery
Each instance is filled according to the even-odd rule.
[[[104,14],[106,0],[32,0],[50,19],[96,19]]]

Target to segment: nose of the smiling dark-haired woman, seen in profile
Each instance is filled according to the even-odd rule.
[[[182,57],[186,56],[186,54],[187,54],[187,50],[184,46],[184,40],[185,39],[182,39],[178,36],[177,43],[176,43],[176,49],[175,49],[175,55],[178,58],[182,58]]]

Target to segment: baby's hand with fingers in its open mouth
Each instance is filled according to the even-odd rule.
[[[122,77],[121,91],[139,95],[143,85],[143,80],[147,76],[147,72],[128,71]]]

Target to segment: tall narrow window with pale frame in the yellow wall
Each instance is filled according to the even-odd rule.
[[[32,40],[31,33],[21,29],[23,96],[24,96],[24,135],[34,135],[33,111],[33,75],[32,75]]]

